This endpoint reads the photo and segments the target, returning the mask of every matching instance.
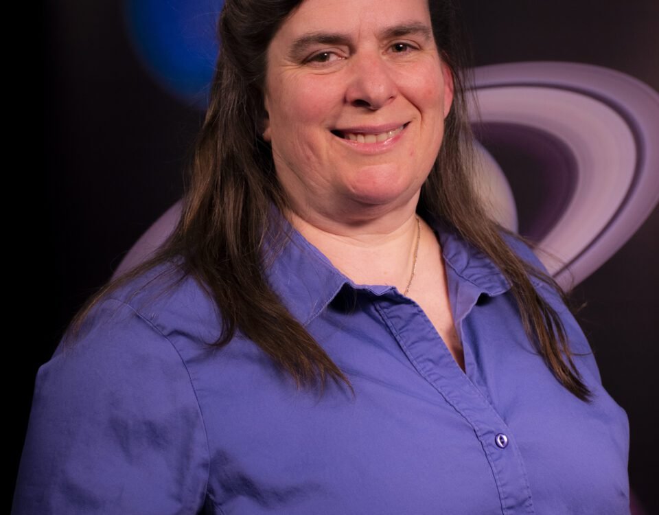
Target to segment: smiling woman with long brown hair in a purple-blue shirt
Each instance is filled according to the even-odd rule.
[[[470,192],[450,3],[220,36],[181,222],[40,369],[14,512],[628,513],[625,413]]]

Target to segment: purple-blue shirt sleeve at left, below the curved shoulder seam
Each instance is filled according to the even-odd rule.
[[[107,299],[38,371],[12,514],[194,514],[208,469],[187,367]]]

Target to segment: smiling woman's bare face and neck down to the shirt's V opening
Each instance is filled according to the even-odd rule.
[[[287,19],[268,47],[264,139],[288,220],[354,282],[408,293],[411,249],[423,232],[417,281],[430,288],[412,291],[464,367],[437,240],[416,216],[452,74],[424,0],[381,7],[308,0]]]

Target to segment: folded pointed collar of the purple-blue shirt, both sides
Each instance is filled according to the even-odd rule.
[[[369,290],[374,295],[384,295],[395,289],[393,286],[354,284],[294,229],[284,216],[279,216],[286,241],[275,253],[266,277],[284,306],[303,325],[317,317],[344,286]],[[441,222],[432,222],[431,227],[435,229],[443,258],[448,265],[452,303],[463,297],[463,290],[470,291],[469,297],[477,297],[481,293],[500,295],[509,290],[506,279],[481,251]]]

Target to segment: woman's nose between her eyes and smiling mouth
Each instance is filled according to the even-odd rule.
[[[350,63],[345,100],[356,107],[376,111],[396,96],[396,82],[386,59],[379,52],[355,54]]]

